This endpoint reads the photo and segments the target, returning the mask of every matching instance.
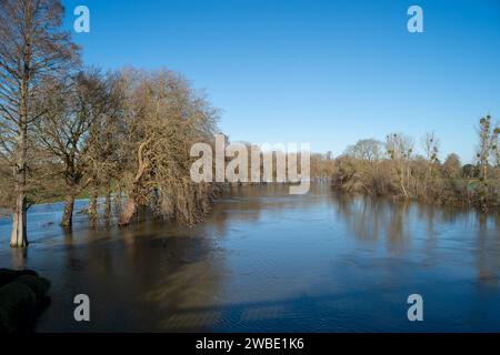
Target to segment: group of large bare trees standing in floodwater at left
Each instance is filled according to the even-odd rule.
[[[13,211],[11,246],[24,247],[31,203],[89,193],[89,215],[106,195],[124,200],[119,224],[138,206],[194,223],[211,184],[193,184],[189,148],[212,139],[218,112],[170,71],[82,68],[61,29],[59,0],[0,0],[0,201]]]

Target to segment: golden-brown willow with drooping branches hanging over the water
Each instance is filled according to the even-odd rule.
[[[212,139],[217,110],[189,83],[169,71],[131,72],[127,89],[129,169],[126,207],[119,224],[127,225],[139,205],[161,215],[193,223],[211,193],[208,184],[190,180],[190,149]]]

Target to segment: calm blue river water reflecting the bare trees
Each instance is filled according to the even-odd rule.
[[[79,201],[77,211],[86,201]],[[348,196],[328,185],[232,187],[194,227],[143,221],[90,229],[61,204],[33,206],[30,247],[0,267],[52,283],[38,332],[500,331],[500,217]],[[91,321],[73,318],[90,297]],[[423,297],[423,322],[407,298]]]

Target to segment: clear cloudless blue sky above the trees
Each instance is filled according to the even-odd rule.
[[[206,88],[232,141],[310,142],[434,130],[473,158],[474,126],[500,120],[500,1],[64,0],[87,64],[168,68]],[[423,8],[424,33],[407,31]]]

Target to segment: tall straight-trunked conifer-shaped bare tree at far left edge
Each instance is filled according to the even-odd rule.
[[[10,245],[26,247],[28,154],[33,123],[44,113],[32,102],[44,78],[63,74],[78,50],[61,29],[59,0],[0,0],[0,153],[12,171]]]

